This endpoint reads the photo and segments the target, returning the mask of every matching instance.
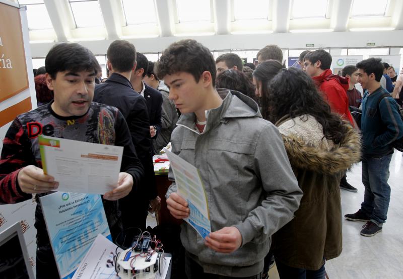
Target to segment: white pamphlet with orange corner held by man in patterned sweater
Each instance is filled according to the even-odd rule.
[[[39,136],[42,168],[57,191],[105,194],[116,187],[123,147]]]

